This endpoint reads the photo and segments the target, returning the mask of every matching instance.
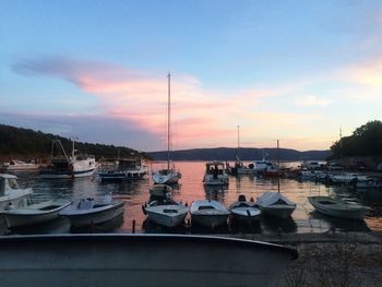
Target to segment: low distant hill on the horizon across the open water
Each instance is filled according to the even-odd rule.
[[[193,148],[171,152],[172,160],[235,160],[238,153],[237,148],[216,147],[216,148]],[[154,160],[167,160],[167,152],[147,153]],[[277,159],[277,148],[239,148],[241,160]],[[332,155],[331,151],[307,151],[299,152],[289,148],[279,148],[280,160],[324,160]]]

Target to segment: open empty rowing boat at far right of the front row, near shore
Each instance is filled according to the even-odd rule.
[[[334,217],[363,219],[369,211],[366,206],[330,196],[309,196],[308,201],[318,212]]]

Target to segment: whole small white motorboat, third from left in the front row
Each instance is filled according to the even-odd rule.
[[[72,203],[60,211],[61,216],[69,218],[71,226],[84,227],[103,224],[116,218],[123,213],[124,202],[112,202],[110,195],[106,195],[103,202],[94,199],[82,199],[79,203]]]

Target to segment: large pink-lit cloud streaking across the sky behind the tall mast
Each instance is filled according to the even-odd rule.
[[[118,64],[62,57],[17,61],[12,70],[24,76],[61,79],[93,95],[99,101],[102,113],[94,118],[81,115],[73,115],[70,119],[62,118],[62,122],[68,121],[73,130],[87,134],[92,141],[99,137],[103,139],[102,142],[106,139],[110,143],[121,142],[118,141],[120,137],[129,143],[128,139],[133,134],[136,140],[130,142],[135,142],[136,145],[132,147],[148,151],[166,148],[166,144],[163,144],[166,142],[166,73],[157,76],[157,73],[141,72]],[[301,130],[301,122],[320,118],[308,112],[277,112],[263,110],[262,107],[265,103],[272,105],[284,96],[296,94],[301,87],[309,85],[309,81],[275,85],[272,88],[249,87],[227,92],[203,87],[196,77],[188,74],[174,74],[171,80],[175,148],[236,146],[237,124],[247,127],[241,133],[243,142],[254,142],[251,139],[256,139],[262,133],[262,142],[265,143],[265,137],[278,139],[287,132],[293,134],[296,129]],[[301,103],[320,106],[330,104],[329,100],[315,97]],[[53,118],[51,115],[45,117]],[[76,125],[76,120],[81,125]],[[92,121],[99,125],[102,133],[96,131],[97,125]],[[79,130],[86,124],[92,128]],[[150,139],[141,146],[140,133],[143,139]],[[260,142],[255,143],[261,147]]]

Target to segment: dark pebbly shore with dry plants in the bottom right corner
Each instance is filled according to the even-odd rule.
[[[277,287],[381,286],[382,232],[238,235],[296,248]]]

